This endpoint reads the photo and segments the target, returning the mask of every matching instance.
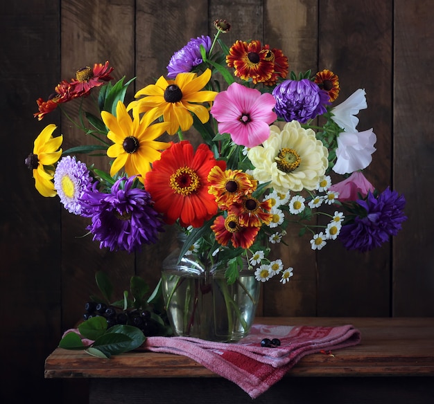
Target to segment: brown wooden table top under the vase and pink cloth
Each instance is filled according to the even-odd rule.
[[[288,376],[434,376],[434,318],[257,318],[258,324],[332,327],[352,324],[359,345],[333,356],[304,356]],[[110,359],[57,348],[46,358],[46,378],[220,377],[190,358],[132,351]]]

